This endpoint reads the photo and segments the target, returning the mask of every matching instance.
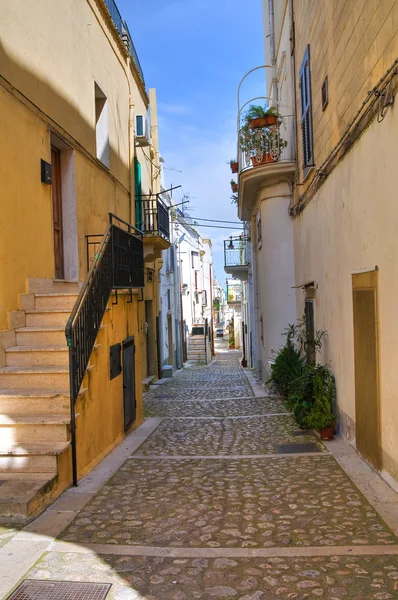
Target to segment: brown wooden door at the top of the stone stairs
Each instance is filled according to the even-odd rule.
[[[64,240],[62,230],[61,152],[51,146],[52,187],[54,226],[55,279],[64,279]]]

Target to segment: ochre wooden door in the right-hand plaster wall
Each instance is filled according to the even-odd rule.
[[[381,469],[377,271],[352,276],[355,353],[355,421],[358,451]]]

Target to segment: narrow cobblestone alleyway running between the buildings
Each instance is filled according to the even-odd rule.
[[[106,459],[0,553],[36,544],[20,577],[111,583],[113,600],[398,598],[398,540],[333,453],[393,527],[395,493],[343,442],[297,431],[217,345],[153,386],[113,477]]]

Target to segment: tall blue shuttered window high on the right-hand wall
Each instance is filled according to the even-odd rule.
[[[311,107],[311,70],[310,47],[304,54],[300,67],[300,105],[301,105],[301,137],[303,145],[303,167],[314,165],[312,107]]]

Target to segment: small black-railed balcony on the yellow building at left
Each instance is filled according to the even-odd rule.
[[[143,197],[136,200],[135,215],[137,229],[144,234],[145,260],[161,258],[162,250],[170,246],[169,209],[158,195]]]

